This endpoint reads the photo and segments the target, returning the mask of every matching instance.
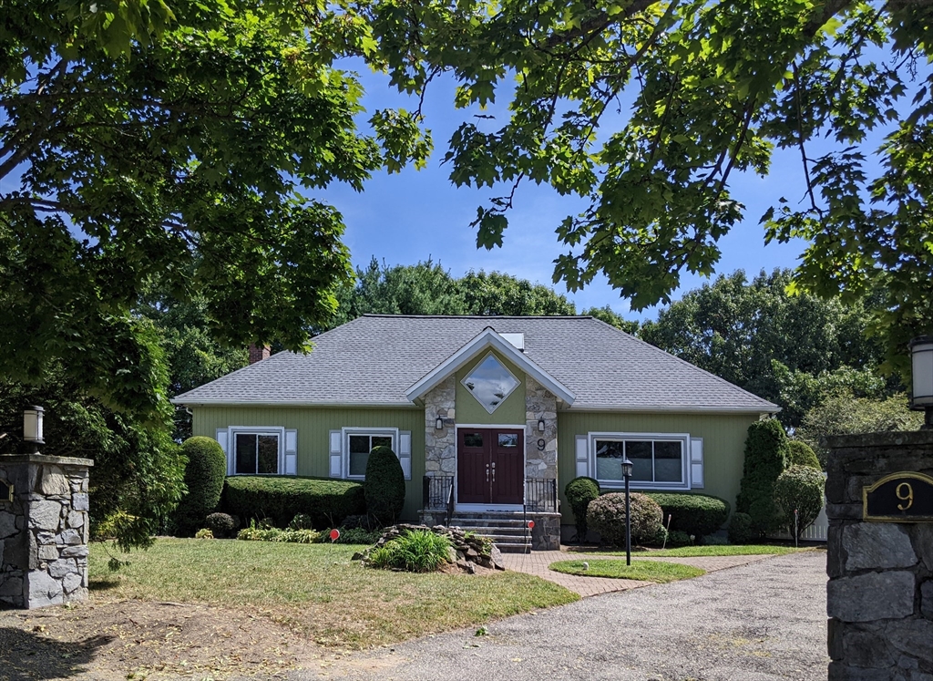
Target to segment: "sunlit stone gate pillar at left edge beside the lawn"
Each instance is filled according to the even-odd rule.
[[[88,595],[87,459],[0,456],[0,603],[18,608]]]

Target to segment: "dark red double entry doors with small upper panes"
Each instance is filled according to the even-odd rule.
[[[457,431],[457,503],[524,503],[524,431]]]

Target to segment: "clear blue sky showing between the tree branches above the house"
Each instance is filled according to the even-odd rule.
[[[413,109],[416,102],[397,92],[391,92],[383,78],[360,74],[367,96],[368,110],[386,106]],[[363,193],[348,187],[334,186],[320,198],[331,202],[343,214],[347,225],[344,238],[351,249],[355,265],[366,265],[372,256],[389,265],[413,264],[428,258],[440,262],[455,277],[467,271],[506,272],[535,282],[553,286],[573,300],[578,309],[609,305],[628,319],[652,319],[657,309],[642,313],[630,310],[628,301],[620,298],[604,280],[596,279],[583,291],[566,292],[563,283],[551,284],[553,260],[562,247],[554,229],[565,216],[577,213],[583,206],[574,197],[563,197],[547,186],[522,184],[516,192],[514,208],[509,212],[509,227],[504,246],[486,250],[476,248],[476,233],[469,223],[476,218],[480,205],[487,205],[492,196],[502,195],[495,189],[455,188],[448,179],[449,168],[440,160],[447,140],[456,127],[472,115],[472,111],[453,109],[453,83],[431,84],[425,97],[425,125],[434,135],[435,152],[428,166],[417,171],[407,168],[397,175],[380,173],[372,177]],[[505,121],[505,112],[493,108],[497,124]],[[624,111],[622,112],[624,115]],[[623,117],[610,124],[621,125]],[[722,259],[717,274],[745,269],[749,275],[774,267],[795,267],[804,248],[801,243],[764,245],[764,231],[759,217],[786,196],[793,204],[803,197],[800,152],[796,149],[778,151],[773,158],[768,177],[754,174],[731,177],[733,196],[745,204],[745,220],[720,240]],[[681,287],[675,298],[703,284],[706,279],[683,273]]]

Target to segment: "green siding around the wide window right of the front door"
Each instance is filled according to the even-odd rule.
[[[558,412],[558,480],[564,524],[573,523],[573,513],[564,498],[564,486],[577,475],[574,450],[576,435],[598,432],[689,433],[691,437],[702,437],[705,484],[703,489],[692,491],[725,499],[734,510],[745,461],[745,435],[748,426],[758,419],[755,414]]]

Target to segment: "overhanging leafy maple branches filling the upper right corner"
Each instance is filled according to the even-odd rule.
[[[455,184],[505,185],[478,210],[479,246],[502,243],[517,184],[549,182],[588,202],[557,229],[554,281],[602,274],[636,309],[668,302],[745,218],[731,179],[790,149],[803,195],[760,221],[766,241],[807,243],[793,289],[884,291],[872,325],[900,362],[929,331],[929,2],[390,0],[369,17],[399,87],[450,73],[456,106],[495,105],[445,155]]]

